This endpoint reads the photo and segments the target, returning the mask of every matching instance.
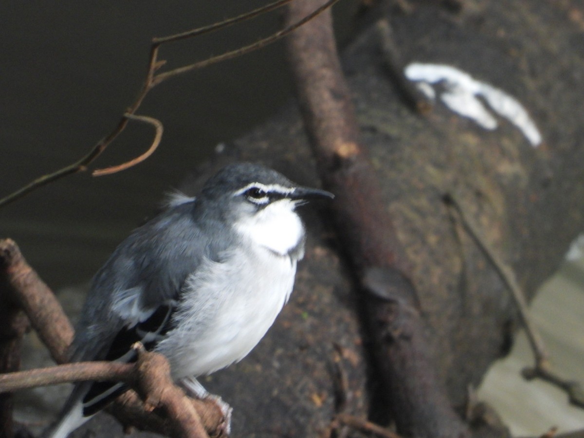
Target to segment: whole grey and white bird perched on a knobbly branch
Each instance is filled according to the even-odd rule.
[[[134,361],[131,345],[141,341],[200,393],[196,377],[243,359],[288,301],[304,256],[295,208],[332,197],[261,165],[228,165],[116,248],[93,277],[71,360]],[[127,389],[75,385],[45,436],[67,437]]]

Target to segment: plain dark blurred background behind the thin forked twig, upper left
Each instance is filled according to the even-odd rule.
[[[109,134],[144,79],[152,37],[184,32],[265,1],[0,2],[0,197],[84,156]],[[341,41],[358,4],[335,8]],[[280,12],[164,46],[168,68],[252,43],[281,27]],[[155,88],[138,114],[157,117],[157,152],[126,172],[68,176],[0,208],[15,239],[54,289],[88,281],[113,248],[219,142],[273,114],[291,95],[283,43]],[[140,155],[152,128],[130,123],[93,166]]]

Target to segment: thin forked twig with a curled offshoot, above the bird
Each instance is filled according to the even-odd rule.
[[[178,76],[181,74],[185,74],[187,72],[194,71],[196,69],[204,68],[204,67],[207,67],[208,65],[216,64],[217,62],[221,62],[221,61],[229,60],[231,58],[238,57],[240,55],[250,53],[254,50],[258,50],[259,48],[263,48],[263,47],[267,46],[267,44],[271,44],[274,41],[279,40],[282,37],[286,36],[287,34],[293,32],[298,27],[302,26],[304,23],[308,22],[309,20],[311,20],[315,16],[319,15],[319,13],[321,13],[322,11],[325,11],[326,9],[330,8],[333,4],[335,4],[339,0],[327,1],[325,4],[323,4],[322,6],[320,6],[317,9],[315,9],[315,11],[308,14],[303,19],[298,20],[296,23],[292,23],[291,25],[284,27],[284,29],[279,30],[279,32],[276,32],[276,33],[270,35],[269,37],[266,37],[264,39],[256,41],[255,43],[249,44],[248,46],[241,47],[241,48],[238,48],[236,50],[228,51],[227,53],[217,55],[217,56],[208,58],[208,59],[203,60],[203,61],[194,62],[193,64],[185,65],[183,67],[178,67],[178,68],[172,69],[170,71],[166,71],[164,73],[156,74],[158,69],[160,69],[166,62],[164,60],[158,59],[158,49],[162,44],[171,43],[173,41],[178,41],[178,40],[182,40],[182,39],[195,37],[195,36],[198,36],[198,35],[203,34],[203,33],[213,32],[214,30],[219,30],[219,29],[222,29],[224,27],[234,25],[235,23],[239,23],[239,22],[242,22],[242,21],[247,20],[247,19],[255,18],[256,16],[258,16],[262,13],[269,12],[269,11],[272,11],[273,9],[279,8],[280,6],[283,6],[290,1],[291,0],[278,0],[276,2],[273,2],[272,4],[263,6],[262,8],[258,8],[258,9],[251,11],[251,12],[245,13],[243,15],[239,15],[237,17],[224,20],[223,22],[215,23],[215,24],[210,25],[210,26],[200,27],[198,29],[193,29],[193,30],[190,30],[188,32],[183,32],[183,33],[173,34],[173,35],[166,36],[166,37],[159,37],[159,38],[152,39],[152,46],[150,49],[150,60],[148,62],[148,71],[146,74],[144,85],[142,85],[142,88],[141,88],[140,92],[138,93],[137,98],[128,107],[128,109],[126,110],[126,113],[124,114],[124,116],[121,117],[120,121],[117,123],[116,127],[114,127],[112,132],[109,135],[107,135],[105,138],[100,140],[95,146],[93,146],[93,148],[88,152],[88,154],[86,154],[84,157],[82,157],[78,161],[76,161],[68,166],[65,166],[64,168],[59,169],[56,172],[48,173],[47,175],[40,176],[39,178],[32,180],[32,182],[21,187],[20,189],[16,190],[15,192],[8,194],[8,196],[5,196],[4,198],[0,199],[0,206],[4,206],[6,204],[9,204],[12,201],[15,201],[15,200],[19,199],[20,197],[23,197],[26,194],[32,192],[33,190],[35,190],[41,186],[45,186],[48,183],[51,183],[57,179],[64,178],[65,176],[71,175],[72,173],[86,171],[88,169],[88,166],[91,165],[93,163],[93,161],[95,161],[95,159],[97,159],[99,157],[99,155],[101,155],[102,152],[105,151],[107,146],[111,142],[113,142],[117,138],[118,135],[120,135],[122,133],[122,131],[127,126],[128,120],[132,118],[132,117],[128,117],[128,114],[130,114],[130,116],[135,115],[135,112],[138,110],[138,108],[142,104],[142,101],[144,100],[144,98],[146,97],[148,92],[150,92],[150,90],[152,88],[154,88],[156,85],[161,84],[161,82],[166,81],[166,79],[170,79],[172,77],[175,77],[175,76]],[[143,119],[145,116],[140,116],[140,117],[142,117],[142,119],[141,119],[142,121],[146,121]],[[152,121],[148,121],[148,123],[152,123]],[[158,128],[157,128],[157,130],[158,130]],[[155,144],[156,144],[156,139],[152,143],[152,145],[155,145]],[[154,146],[154,148],[151,146],[151,148],[149,150],[150,154],[155,150],[156,146],[157,146],[157,144]],[[97,171],[93,172],[92,175],[93,176],[108,175],[110,173],[122,171],[124,169],[127,169],[127,168],[134,166],[135,164],[138,164],[139,162],[143,161],[145,158],[148,157],[149,154],[148,155],[147,154],[148,154],[148,152],[146,154],[142,154],[140,157],[137,157],[131,161],[128,161],[127,163],[113,166],[112,168],[98,169]],[[147,155],[147,156],[144,157],[144,155]]]

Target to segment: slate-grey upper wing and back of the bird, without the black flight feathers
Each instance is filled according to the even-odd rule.
[[[105,359],[117,333],[158,317],[160,305],[179,300],[182,284],[209,251],[191,210],[193,203],[169,208],[116,248],[93,277],[72,360]]]

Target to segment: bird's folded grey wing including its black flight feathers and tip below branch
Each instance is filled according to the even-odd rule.
[[[73,361],[131,362],[135,342],[151,350],[172,329],[182,285],[203,258],[218,253],[213,239],[195,226],[189,208],[172,207],[138,228],[96,274],[72,346]],[[82,398],[84,416],[126,390],[120,383],[93,383]]]

